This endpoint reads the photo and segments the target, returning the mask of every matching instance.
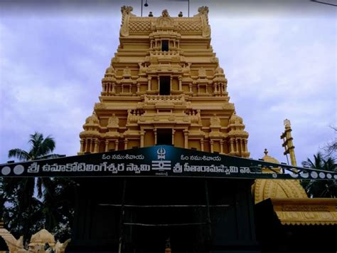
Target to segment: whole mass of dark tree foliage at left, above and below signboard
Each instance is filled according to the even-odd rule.
[[[42,133],[30,135],[30,150],[9,150],[9,158],[39,160],[57,158],[53,154],[55,140]],[[75,182],[68,178],[50,177],[7,177],[0,181],[0,215],[6,227],[25,241],[34,232],[46,227],[58,239],[70,237],[75,200]],[[60,233],[61,232],[61,233]]]

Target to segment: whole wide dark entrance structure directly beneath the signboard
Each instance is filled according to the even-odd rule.
[[[252,180],[76,181],[80,189],[68,252],[164,252],[168,239],[174,253],[243,250],[256,244]]]

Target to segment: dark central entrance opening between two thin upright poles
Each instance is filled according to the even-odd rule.
[[[126,192],[124,252],[164,252],[168,240],[174,252],[207,252],[208,205],[203,180],[190,182],[198,189],[196,194],[182,191],[183,181],[177,180],[174,186],[169,180],[149,182],[134,181]],[[139,183],[141,191],[133,192]]]

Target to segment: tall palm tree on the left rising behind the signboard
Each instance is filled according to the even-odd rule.
[[[18,158],[21,161],[29,160],[40,160],[48,158],[57,158],[60,155],[53,154],[55,149],[55,141],[50,135],[43,138],[42,133],[34,133],[30,135],[28,143],[31,144],[31,149],[29,151],[21,150],[20,148],[15,148],[9,150],[9,158]],[[6,178],[4,180],[4,192],[7,200],[11,200],[11,207],[15,207],[12,212],[16,212],[14,217],[17,217],[17,221],[12,221],[12,224],[16,224],[17,227],[13,227],[18,233],[23,234],[25,239],[28,238],[28,234],[31,233],[33,227],[32,221],[36,220],[33,217],[41,215],[41,208],[46,209],[46,206],[50,205],[52,202],[52,192],[53,192],[52,180],[48,177],[38,177],[37,179],[33,177],[24,178]],[[34,197],[35,187],[38,190],[38,197],[43,197],[43,205],[41,200]],[[43,194],[45,193],[45,194]],[[48,197],[46,197],[48,193]],[[48,209],[48,208],[47,208]],[[50,216],[50,215],[49,215]],[[46,215],[45,215],[46,217]],[[53,225],[55,222],[53,222]]]

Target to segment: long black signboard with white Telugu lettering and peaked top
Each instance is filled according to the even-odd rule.
[[[268,173],[262,173],[262,167]],[[280,167],[282,170],[275,170]],[[0,165],[1,177],[232,177],[337,179],[336,172],[158,145]]]

